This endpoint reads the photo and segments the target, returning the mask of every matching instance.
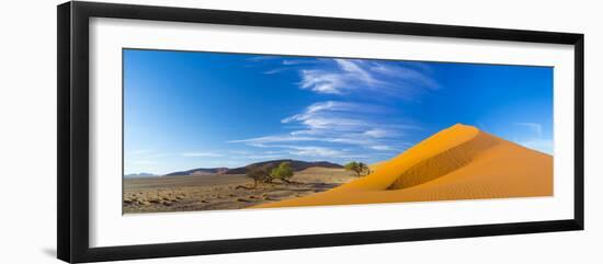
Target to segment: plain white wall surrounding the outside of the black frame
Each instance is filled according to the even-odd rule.
[[[148,1],[147,1],[148,2]],[[596,1],[156,1],[212,9],[582,32],[587,89],[587,231],[178,257],[170,263],[601,263],[603,124],[601,7]],[[58,263],[56,252],[57,1],[2,7],[0,262]],[[599,251],[598,251],[599,250]],[[167,260],[130,263],[166,263]]]

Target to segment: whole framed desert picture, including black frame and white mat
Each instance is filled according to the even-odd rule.
[[[58,257],[582,230],[583,59],[574,33],[60,4]]]

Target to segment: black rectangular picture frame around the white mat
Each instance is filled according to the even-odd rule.
[[[414,36],[567,44],[574,47],[574,213],[572,219],[455,226],[310,236],[153,243],[109,248],[89,245],[89,19],[114,18],[284,28],[309,28]],[[287,14],[164,8],[100,2],[66,2],[58,20],[57,255],[66,262],[203,255],[338,246],[418,240],[583,230],[584,228],[584,36],[504,28],[368,21]]]

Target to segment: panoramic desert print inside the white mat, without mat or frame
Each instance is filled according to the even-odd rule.
[[[553,196],[551,67],[123,49],[123,214]]]

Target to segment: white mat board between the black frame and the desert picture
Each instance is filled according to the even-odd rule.
[[[92,20],[90,31],[91,142],[95,150],[90,175],[91,246],[558,220],[573,216],[571,46],[107,19]],[[553,66],[555,196],[124,217],[120,206],[123,47]]]

